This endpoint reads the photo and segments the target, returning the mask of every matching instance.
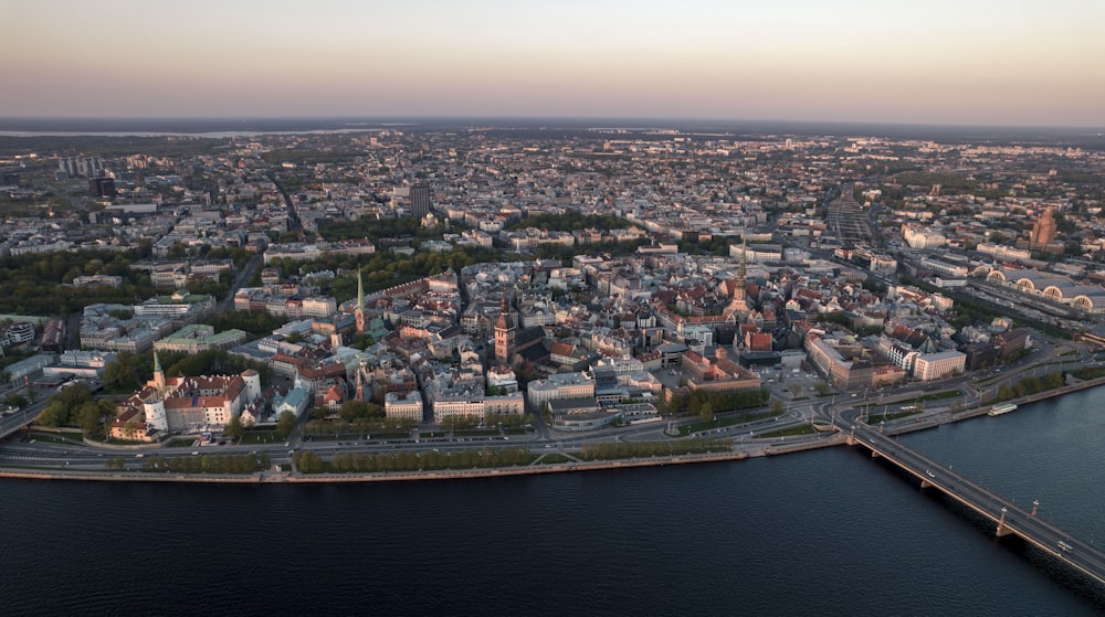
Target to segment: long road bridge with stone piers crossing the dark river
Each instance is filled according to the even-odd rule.
[[[1036,504],[1024,510],[990,492],[925,455],[907,448],[878,430],[859,422],[848,423],[849,445],[862,445],[871,456],[882,457],[933,488],[989,519],[999,538],[1017,535],[1086,576],[1105,584],[1105,553],[1072,536],[1036,515]]]

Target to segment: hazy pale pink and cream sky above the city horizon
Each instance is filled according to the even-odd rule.
[[[0,117],[1105,127],[1105,0],[3,0]]]

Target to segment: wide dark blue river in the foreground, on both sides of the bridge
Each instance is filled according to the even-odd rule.
[[[901,439],[1097,543],[1103,393]],[[9,616],[1105,611],[1105,588],[862,448],[441,482],[0,490]]]

